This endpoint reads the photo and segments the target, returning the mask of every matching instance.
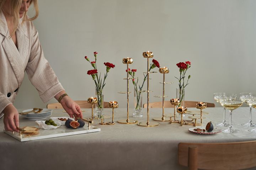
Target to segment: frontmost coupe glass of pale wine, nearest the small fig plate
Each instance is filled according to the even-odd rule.
[[[229,112],[230,112],[229,128],[224,129],[222,131],[225,133],[238,133],[239,130],[233,129],[233,127],[232,127],[232,112],[233,112],[233,110],[242,106],[243,101],[242,100],[233,100],[232,97],[220,97],[219,103],[222,105],[222,107],[229,109]]]

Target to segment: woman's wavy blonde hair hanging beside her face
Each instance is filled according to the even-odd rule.
[[[5,1],[6,0],[0,0],[0,10],[2,10],[2,7],[3,7]],[[12,22],[14,24],[14,29],[10,33],[10,37],[16,32],[18,26],[20,25],[19,12],[20,12],[20,8],[21,8],[21,2],[22,2],[22,0],[10,0],[10,12],[11,12],[10,15],[14,17],[12,20]],[[30,5],[31,4],[33,4],[33,6],[34,6],[35,15],[32,18],[29,18],[29,17],[27,17],[27,12],[25,12],[23,15],[21,24],[23,24],[25,21],[32,21],[38,17],[39,8],[38,8],[37,0],[30,0]]]

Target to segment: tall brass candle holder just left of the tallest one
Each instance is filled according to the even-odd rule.
[[[118,123],[121,123],[121,124],[135,124],[135,123],[138,123],[137,120],[129,119],[129,94],[132,93],[132,92],[129,92],[129,79],[132,79],[132,78],[129,78],[129,64],[132,64],[132,63],[133,63],[132,58],[128,58],[128,57],[123,58],[123,64],[127,65],[127,78],[124,78],[124,80],[127,80],[127,92],[118,92],[118,93],[127,94],[127,119],[117,121]]]

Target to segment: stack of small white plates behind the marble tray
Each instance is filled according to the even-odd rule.
[[[30,112],[33,109],[28,109],[22,112]],[[42,119],[46,119],[48,117],[50,117],[52,115],[52,109],[43,109],[40,113],[28,113],[23,115],[23,117],[28,118],[30,120],[42,120]]]

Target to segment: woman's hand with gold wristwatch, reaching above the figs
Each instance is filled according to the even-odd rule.
[[[74,102],[69,96],[65,96],[61,101],[62,107],[69,114],[71,118],[77,117],[82,118],[82,111],[80,106]]]

